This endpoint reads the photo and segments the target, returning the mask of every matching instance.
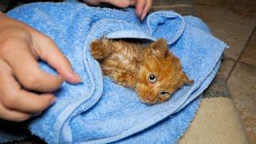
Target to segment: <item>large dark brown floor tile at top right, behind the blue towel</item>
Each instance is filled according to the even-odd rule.
[[[237,59],[254,29],[256,18],[240,18],[225,6],[196,5],[196,9],[198,17],[210,26],[213,34],[230,46],[225,56]]]

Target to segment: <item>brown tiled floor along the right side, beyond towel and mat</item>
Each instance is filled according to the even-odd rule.
[[[246,134],[251,143],[256,143],[256,17],[241,17],[223,4],[194,4],[198,16],[213,34],[230,46],[220,71],[226,78]]]

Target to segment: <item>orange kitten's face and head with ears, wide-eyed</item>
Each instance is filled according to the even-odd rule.
[[[182,71],[179,59],[168,51],[164,39],[159,39],[144,50],[135,87],[142,102],[165,102],[175,90],[192,83]]]

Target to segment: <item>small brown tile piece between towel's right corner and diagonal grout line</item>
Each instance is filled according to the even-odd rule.
[[[235,61],[233,59],[225,58],[225,57],[222,58],[222,65],[218,70],[218,73],[222,74],[222,76],[225,78],[225,81],[228,75],[230,74],[230,71],[232,70],[234,63]]]

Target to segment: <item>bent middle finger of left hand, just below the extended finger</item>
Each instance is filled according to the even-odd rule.
[[[1,56],[13,70],[18,82],[27,90],[49,92],[58,89],[62,84],[61,76],[54,76],[40,70],[38,62],[29,50],[30,42],[19,42],[19,39],[6,40],[2,43]]]

